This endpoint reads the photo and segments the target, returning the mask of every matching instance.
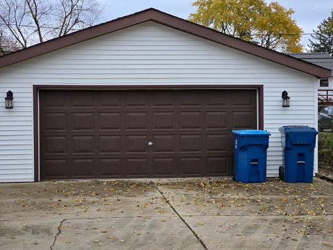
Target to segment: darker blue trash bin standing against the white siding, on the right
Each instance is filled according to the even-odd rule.
[[[280,178],[289,183],[311,183],[314,178],[315,128],[309,126],[282,126],[280,129],[283,166]]]

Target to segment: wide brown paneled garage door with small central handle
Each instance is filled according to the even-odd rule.
[[[40,90],[40,178],[232,176],[256,90]]]

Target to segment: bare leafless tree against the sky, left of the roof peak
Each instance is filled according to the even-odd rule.
[[[22,48],[92,26],[103,10],[96,0],[1,1],[1,39],[15,40]]]

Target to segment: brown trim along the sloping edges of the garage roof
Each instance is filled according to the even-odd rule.
[[[65,35],[61,38],[55,38],[41,44],[36,44],[32,47],[28,47],[27,49],[22,49],[20,51],[10,53],[6,56],[1,56],[0,67],[6,67],[14,63],[19,63],[23,60],[33,58],[35,56],[40,56],[44,53],[62,49],[78,42],[83,42],[85,40],[96,38],[100,35],[119,31],[122,28],[128,28],[130,26],[141,24],[147,21],[153,21],[165,26],[169,26],[171,28],[176,28],[179,31],[184,31],[192,35],[196,35],[200,38],[205,38],[207,40],[211,40],[213,42],[217,42],[219,44],[250,53],[254,56],[259,56],[260,58],[264,58],[266,60],[271,60],[274,63],[279,63],[280,65],[291,67],[293,69],[297,69],[301,72],[305,72],[320,78],[331,76],[330,69],[325,69],[323,67],[313,65],[312,63],[307,63],[304,60],[299,60],[297,58],[287,56],[283,53],[272,51],[271,49],[266,49],[256,44],[246,42],[239,38],[225,35],[219,31],[214,31],[211,28],[206,28],[205,26],[194,24],[185,19],[169,15],[153,8],[148,8],[126,17],[121,17],[110,22],[105,22],[90,28],[85,28],[81,31]]]

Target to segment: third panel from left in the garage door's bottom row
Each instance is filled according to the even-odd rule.
[[[123,162],[121,158],[103,158],[99,160],[101,177],[120,178],[122,176]]]

